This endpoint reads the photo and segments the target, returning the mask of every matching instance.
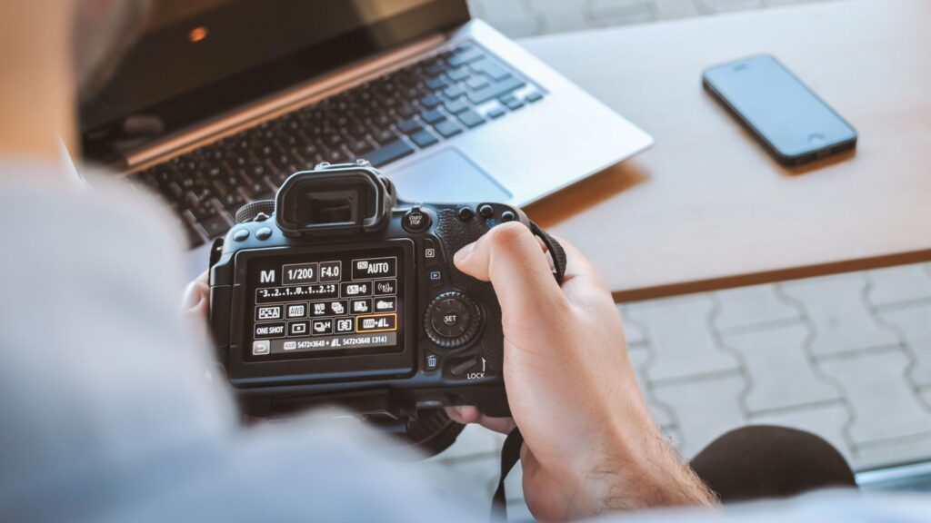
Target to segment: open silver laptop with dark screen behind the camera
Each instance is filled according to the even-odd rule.
[[[80,122],[201,266],[237,208],[320,162],[368,159],[408,201],[523,206],[652,143],[466,0],[157,0]]]

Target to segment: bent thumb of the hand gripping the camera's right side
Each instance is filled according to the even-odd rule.
[[[546,253],[530,229],[518,221],[492,228],[460,249],[453,262],[466,275],[492,282],[505,318],[531,312],[554,317],[547,313],[560,314],[568,306]]]

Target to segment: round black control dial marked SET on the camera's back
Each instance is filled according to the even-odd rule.
[[[479,305],[462,292],[444,292],[426,307],[426,335],[440,347],[453,349],[471,342],[480,325]]]

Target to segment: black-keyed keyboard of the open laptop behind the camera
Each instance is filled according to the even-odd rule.
[[[519,111],[544,93],[466,43],[138,173],[181,218],[191,248],[236,209],[320,162],[383,167]]]

